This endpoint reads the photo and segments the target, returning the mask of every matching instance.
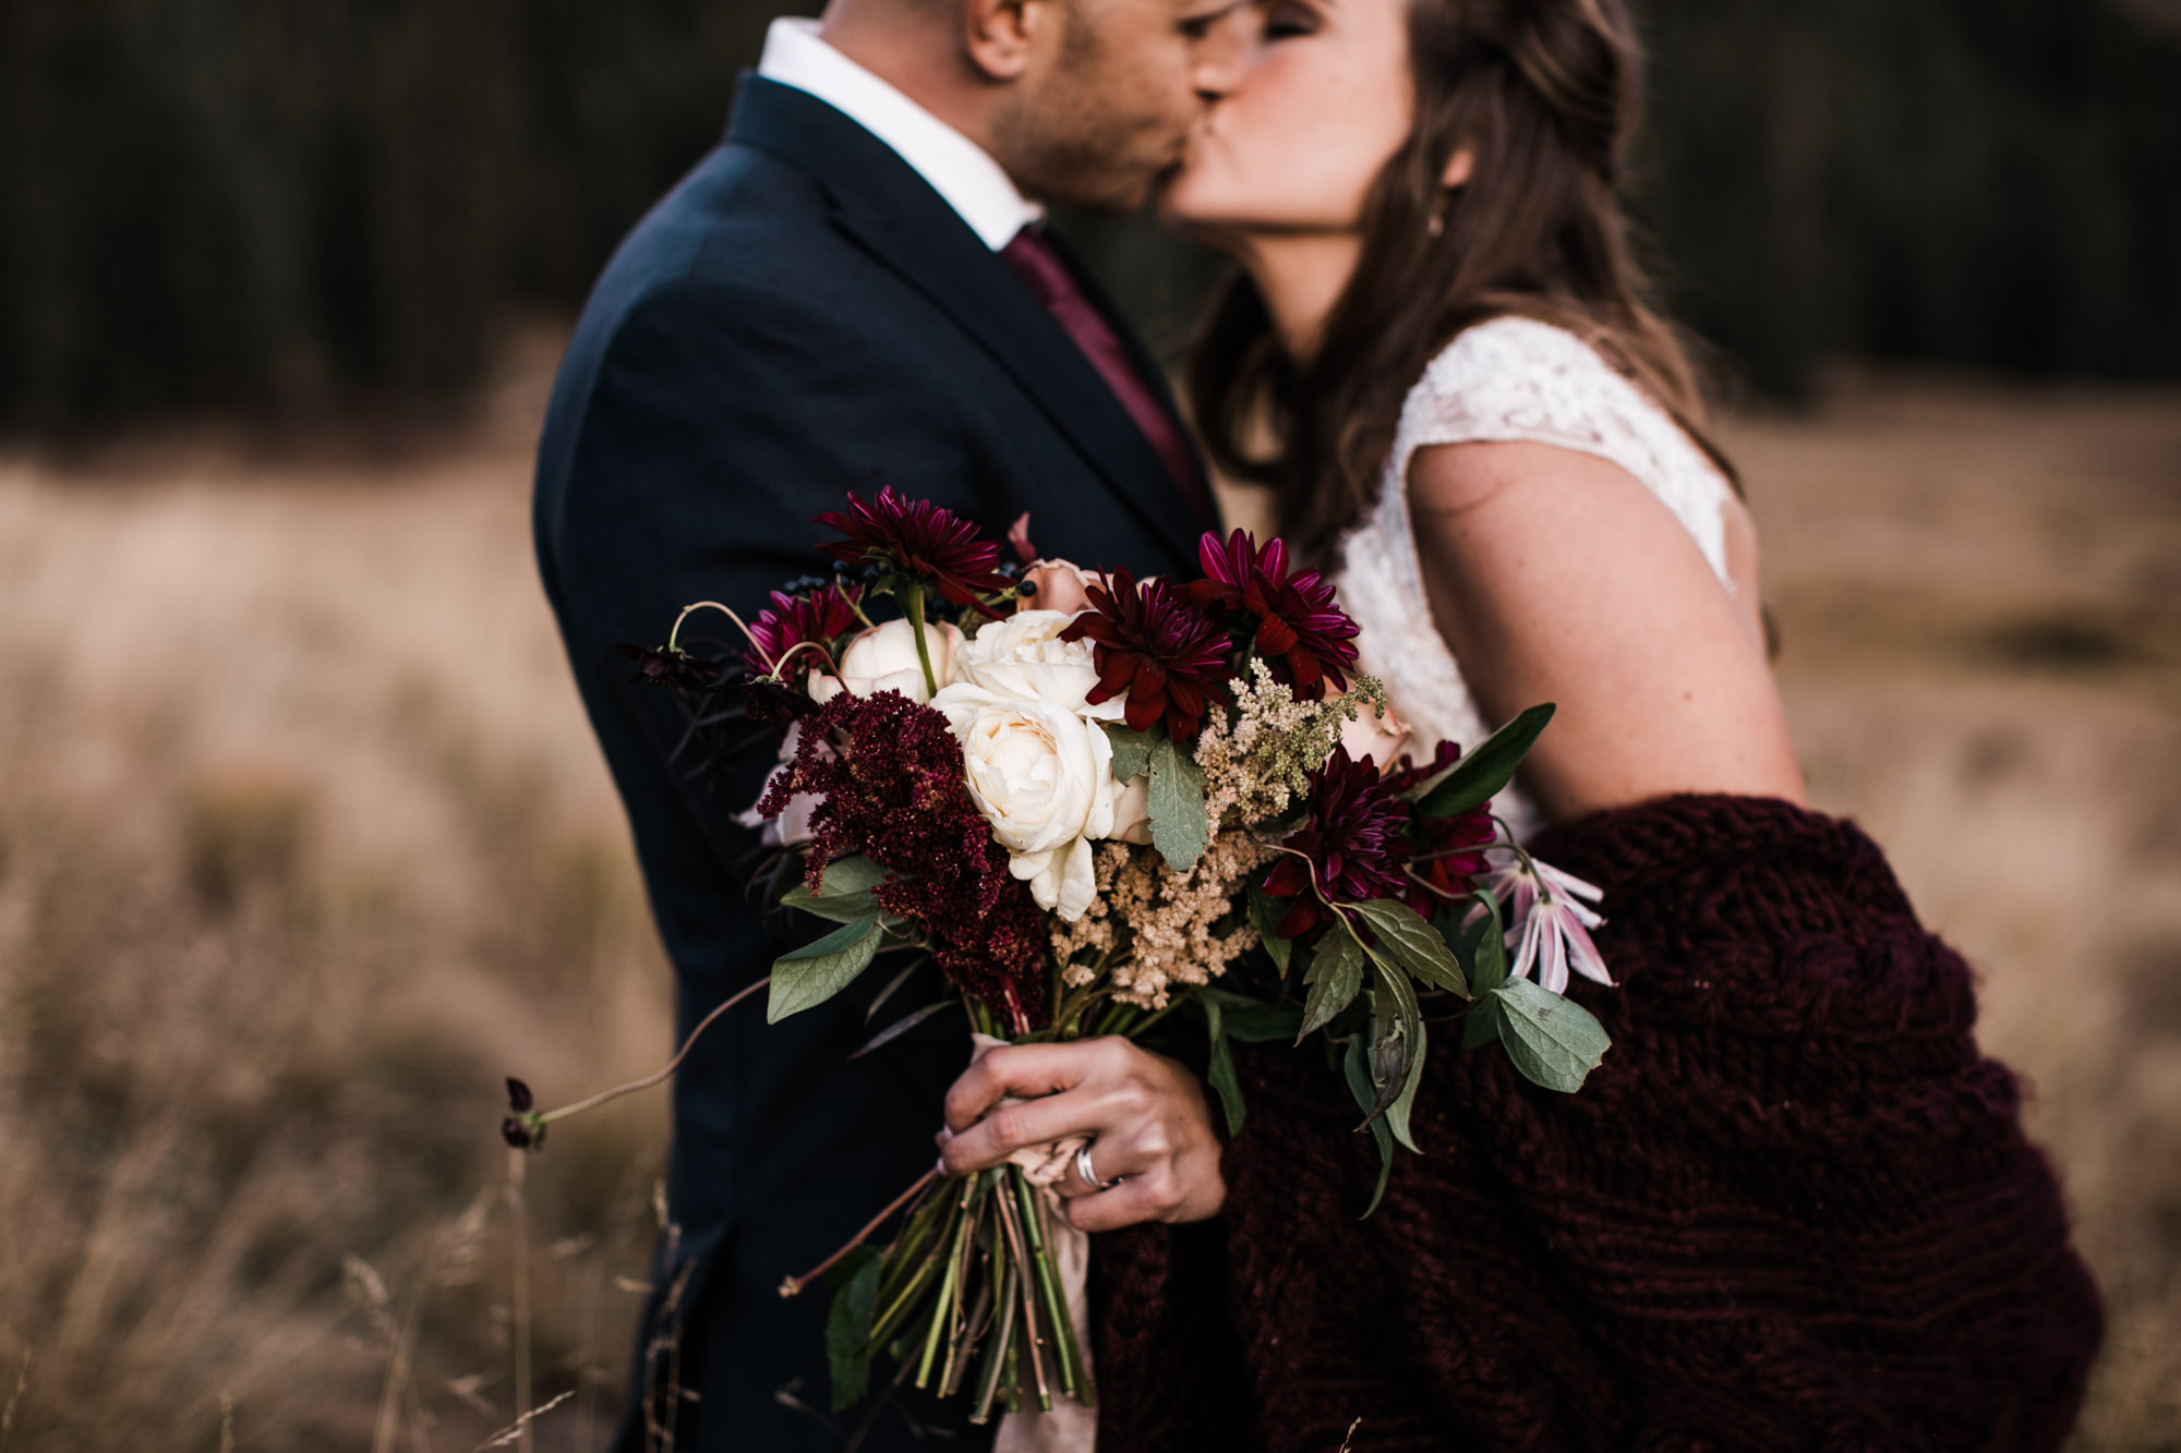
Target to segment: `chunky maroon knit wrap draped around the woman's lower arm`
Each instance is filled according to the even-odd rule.
[[[1241,1054],[1228,1209],[1097,1239],[1101,1453],[2057,1449],[2102,1331],[1967,964],[1786,803],[1551,831],[1605,888],[1577,1095],[1435,1038],[1378,1213],[1313,1049]]]

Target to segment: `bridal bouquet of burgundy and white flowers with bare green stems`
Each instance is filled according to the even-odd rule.
[[[779,851],[781,903],[835,927],[772,966],[770,1021],[894,953],[953,993],[875,1043],[947,1010],[979,1047],[1141,1038],[1182,1012],[1230,1132],[1230,1045],[1315,1038],[1376,1139],[1378,1193],[1396,1145],[1415,1150],[1433,1025],[1557,1091],[1599,1062],[1603,1030],[1559,997],[1570,973],[1610,982],[1599,894],[1490,812],[1551,707],[1466,755],[1411,746],[1354,670],[1330,583],[1278,539],[1206,535],[1202,578],[1138,580],[1036,559],[1027,517],[1001,563],[999,541],[892,489],[820,524],[844,537],[820,545],[835,572],[737,617],[742,679],[683,652],[680,622],[665,648],[624,648],[641,679],[742,689],[774,724],[781,764],[746,820]],[[899,617],[875,620],[881,600]],[[1090,1403],[1056,1250],[1073,1226],[1045,1189],[1075,1150],[960,1182],[933,1169],[783,1285],[835,1285],[835,1405],[877,1353],[966,1392],[979,1422]],[[892,1241],[866,1244],[896,1213]]]

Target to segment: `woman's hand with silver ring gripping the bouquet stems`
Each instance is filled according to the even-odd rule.
[[[1010,1095],[1023,1104],[1001,1104]],[[968,1176],[1071,1134],[1090,1137],[1099,1180],[1119,1180],[1097,1191],[1069,1165],[1056,1189],[1082,1230],[1202,1222],[1226,1204],[1204,1086],[1125,1038],[988,1052],[947,1091],[940,1158],[949,1174]]]

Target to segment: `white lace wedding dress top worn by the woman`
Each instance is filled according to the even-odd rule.
[[[1483,742],[1487,722],[1461,663],[1431,622],[1409,526],[1409,460],[1426,445],[1542,443],[1594,454],[1636,476],[1727,576],[1723,508],[1732,487],[1688,434],[1575,334],[1531,319],[1494,319],[1446,345],[1402,404],[1378,504],[1346,539],[1341,607],[1363,626],[1359,665],[1385,683],[1420,742]],[[1527,838],[1542,825],[1518,788],[1494,803]]]

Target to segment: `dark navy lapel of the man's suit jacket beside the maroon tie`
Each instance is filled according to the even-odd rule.
[[[1193,513],[1143,430],[1067,329],[899,153],[822,100],[761,76],[744,79],[728,142],[768,151],[824,185],[835,225],[975,338],[1119,500],[1165,545],[1195,559]],[[1114,332],[1136,347],[1125,325]]]

